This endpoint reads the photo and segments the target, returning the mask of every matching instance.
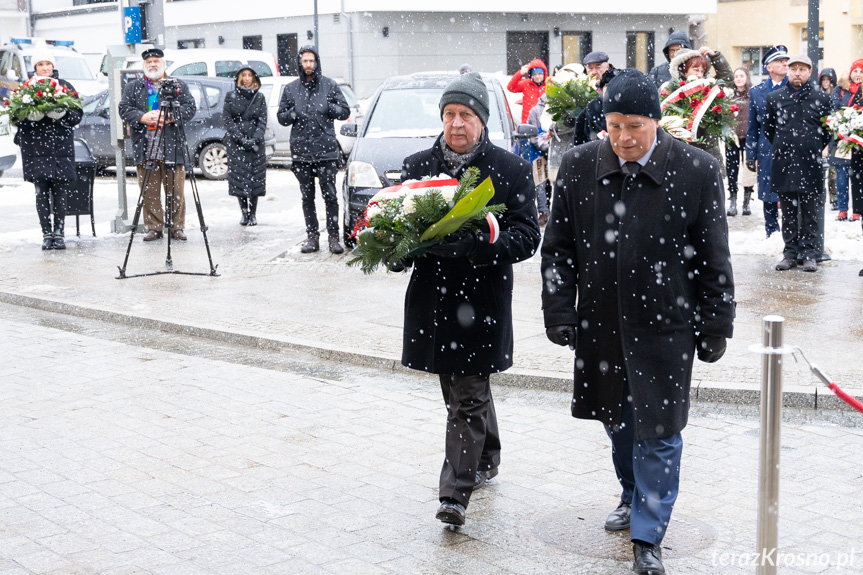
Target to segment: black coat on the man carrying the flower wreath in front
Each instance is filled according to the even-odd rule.
[[[450,173],[439,136],[430,150],[404,161],[403,179]],[[480,233],[472,259],[425,255],[414,260],[405,294],[402,364],[420,371],[478,375],[512,366],[512,264],[539,249],[536,191],[530,164],[483,135],[479,153],[452,176],[469,166],[480,170],[479,182],[491,177],[494,197],[489,204],[506,204],[498,217],[500,236],[488,243]]]

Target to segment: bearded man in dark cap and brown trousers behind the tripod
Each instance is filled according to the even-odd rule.
[[[185,241],[183,184],[186,179],[186,142],[177,123],[185,124],[194,117],[195,100],[185,83],[165,77],[164,52],[150,48],[144,50],[141,57],[144,59],[144,79],[133,80],[123,88],[119,110],[120,117],[132,128],[138,185],[144,192],[144,225],[147,228],[144,241],[162,237],[165,219],[161,182],[165,183],[166,194],[173,195],[171,237]]]

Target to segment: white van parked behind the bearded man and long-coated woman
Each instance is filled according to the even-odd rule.
[[[262,50],[230,48],[165,49],[165,73],[169,76],[206,76],[230,78],[243,66],[249,66],[260,78],[279,75],[275,57]],[[124,68],[143,67],[139,55],[126,60]],[[102,74],[108,74],[107,56],[102,59]]]

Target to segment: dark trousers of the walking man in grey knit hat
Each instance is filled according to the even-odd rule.
[[[470,501],[478,470],[500,464],[500,434],[487,375],[440,374],[447,408],[446,459],[440,472],[441,501]]]

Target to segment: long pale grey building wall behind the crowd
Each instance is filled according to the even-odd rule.
[[[655,64],[664,62],[662,47],[669,28],[689,29],[686,15],[572,15],[502,13],[416,13],[365,12],[349,15],[353,28],[353,78],[348,56],[348,17],[335,23],[332,14],[319,16],[319,48],[323,72],[352,80],[360,98],[370,96],[387,77],[430,70],[457,70],[469,63],[474,70],[506,70],[506,32],[543,31],[549,35],[550,65],[563,64],[561,32],[591,31],[593,49],[609,54],[619,67],[626,64],[626,32],[653,31],[656,38]],[[389,36],[383,36],[387,27]],[[168,47],[177,40],[203,38],[207,48],[240,48],[244,35],[263,36],[263,49],[276,53],[276,35],[296,33],[298,45],[313,44],[306,32],[313,30],[311,16],[199,24],[170,27]],[[224,43],[219,44],[222,36]]]

